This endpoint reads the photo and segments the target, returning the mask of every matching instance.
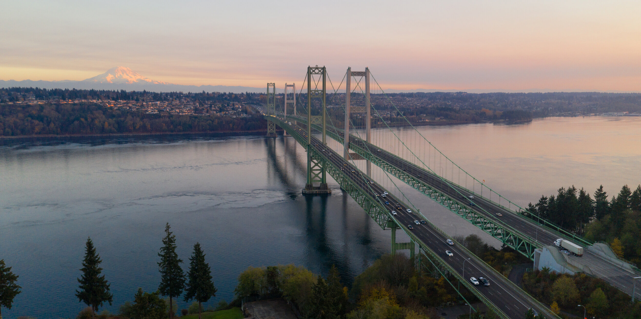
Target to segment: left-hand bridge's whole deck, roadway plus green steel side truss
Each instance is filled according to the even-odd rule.
[[[369,184],[367,184],[367,179],[364,179],[365,177],[363,177],[362,172],[360,172],[358,168],[354,167],[354,165],[351,165],[348,161],[342,158],[342,156],[338,156],[338,154],[333,150],[328,149],[326,145],[323,145],[322,142],[320,142],[320,140],[318,140],[317,138],[313,136],[308,137],[306,134],[306,129],[297,127],[296,125],[283,119],[279,119],[275,116],[265,116],[265,119],[272,120],[278,126],[283,127],[283,129],[287,131],[287,133],[289,133],[296,139],[297,142],[303,145],[306,145],[306,143],[308,142],[308,138],[310,138],[311,143],[307,148],[310,156],[315,160],[323,163],[326,171],[329,172],[330,176],[332,176],[345,190],[345,192],[349,193],[349,195],[353,197],[353,199],[356,200],[356,202],[358,202],[358,204],[363,209],[365,209],[367,214],[372,217],[381,228],[385,229],[386,225],[391,222],[395,224],[395,227],[403,229],[403,231],[410,237],[410,240],[419,245],[419,256],[421,251],[425,252],[424,256],[426,256],[428,261],[435,266],[435,268],[441,275],[445,277],[445,279],[449,282],[449,284],[451,284],[454,290],[459,291],[458,288],[454,285],[454,282],[449,281],[449,279],[447,278],[448,274],[453,275],[458,281],[458,284],[463,284],[463,286],[465,286],[470,292],[478,297],[479,300],[481,300],[490,309],[492,309],[492,311],[494,311],[494,313],[496,313],[500,318],[521,318],[523,314],[519,311],[527,309],[527,307],[534,307],[539,313],[545,314],[549,318],[558,318],[558,316],[551,313],[549,309],[540,304],[537,300],[533,299],[524,291],[520,290],[517,286],[515,286],[515,284],[508,281],[503,275],[496,272],[494,268],[487,265],[480,258],[469,252],[469,250],[462,247],[462,245],[447,246],[449,247],[448,249],[453,250],[456,254],[460,254],[464,259],[469,260],[466,268],[470,268],[470,265],[474,265],[474,267],[476,267],[481,272],[479,274],[483,275],[484,277],[488,277],[490,281],[494,282],[494,285],[491,286],[492,288],[479,288],[478,286],[472,285],[469,281],[467,281],[467,279],[465,279],[465,277],[463,277],[463,274],[461,274],[460,272],[460,268],[456,266],[456,263],[454,263],[454,260],[452,258],[445,257],[447,258],[447,260],[444,259],[444,252],[440,251],[444,249],[443,247],[441,247],[441,249],[434,249],[434,247],[436,247],[434,246],[435,244],[429,244],[431,241],[437,240],[438,243],[443,245],[446,239],[453,240],[453,238],[440,231],[438,227],[431,224],[431,222],[429,222],[429,220],[427,220],[424,216],[420,215],[420,213],[420,217],[405,213],[401,213],[398,216],[393,216],[390,212],[391,205],[385,206],[381,204],[381,202],[378,202],[373,195],[374,191],[382,193],[382,191],[384,190],[378,183],[374,183],[372,184],[372,186],[369,186]],[[344,165],[343,167],[341,167],[341,163]],[[345,170],[345,168],[347,168],[347,170]],[[367,189],[359,185],[359,183],[362,184],[363,181],[365,181]],[[388,200],[392,202],[392,204],[400,204],[400,212],[403,212],[404,208],[408,208],[407,204],[404,204],[403,202],[401,202],[401,200],[397,199],[391,194],[388,195]],[[410,220],[408,220],[408,218],[410,218]],[[426,229],[425,232],[420,231],[420,229],[416,229],[415,231],[410,231],[410,229],[408,229],[406,224],[410,224],[411,220],[414,220],[415,218],[422,218],[426,220],[426,224],[416,226],[424,227]],[[463,263],[463,265],[465,265],[465,263]],[[473,270],[471,271],[472,275],[474,275]],[[465,274],[469,274],[469,272],[470,270],[465,270]],[[490,289],[494,289],[494,293],[492,293]],[[503,293],[505,294],[503,295],[501,291],[503,291]],[[463,295],[461,295],[461,297],[463,297]],[[463,297],[463,299],[465,300],[465,297]],[[526,304],[528,306],[526,306]],[[519,311],[515,311],[514,307],[517,306],[521,308]]]

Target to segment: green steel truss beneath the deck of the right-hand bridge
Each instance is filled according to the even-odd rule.
[[[314,125],[312,125],[312,127],[314,127]],[[327,130],[327,135],[339,143],[344,143],[342,131],[340,131],[336,127],[330,127]],[[358,142],[362,142],[362,140],[356,138],[353,135],[351,136],[351,138],[358,140]],[[456,213],[456,215],[465,218],[465,220],[475,225],[479,229],[485,231],[485,233],[490,234],[505,245],[512,247],[512,249],[517,250],[529,259],[534,260],[534,250],[540,246],[540,243],[538,243],[534,238],[520,233],[519,231],[516,231],[511,227],[508,227],[507,225],[503,225],[499,222],[496,222],[495,220],[489,219],[483,215],[480,215],[479,213],[476,213],[475,211],[467,208],[458,199],[452,199],[451,196],[444,194],[442,191],[433,188],[429,184],[426,184],[423,181],[410,176],[409,174],[406,174],[406,172],[404,172],[402,168],[395,167],[394,165],[387,163],[387,161],[384,161],[378,156],[375,156],[374,154],[372,154],[372,152],[358,145],[358,143],[350,142],[349,148],[356,152],[356,154],[359,154],[360,156],[363,156],[363,158],[368,159],[378,167],[383,168],[383,170],[397,177],[404,183],[412,186],[412,188],[418,190],[421,193],[424,193],[429,198],[435,200],[435,202],[438,202],[438,204],[444,206],[453,213]],[[376,146],[370,145],[370,148],[374,149],[376,148]],[[378,148],[376,149],[378,150]],[[383,150],[381,150],[381,152],[383,152]],[[395,155],[392,154],[392,156]],[[398,158],[398,156],[395,157]]]

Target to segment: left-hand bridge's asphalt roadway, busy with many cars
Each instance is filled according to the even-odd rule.
[[[292,126],[294,126],[292,124]],[[306,130],[296,127],[296,131],[307,138]],[[381,194],[385,192],[385,188],[380,186],[378,183],[374,184],[369,183],[367,175],[363,175],[358,168],[346,161],[342,156],[338,155],[332,149],[329,149],[326,145],[323,145],[320,140],[312,136],[312,147],[315,151],[320,154],[326,154],[328,158],[334,165],[337,167],[343,168],[344,174],[369,193],[372,197],[376,197],[376,194]],[[380,198],[380,196],[376,197]],[[382,199],[381,199],[382,200]],[[401,201],[392,196],[391,194],[385,199],[389,202],[388,205],[383,205],[387,210],[391,218],[399,225],[412,225],[413,230],[410,230],[417,238],[419,238],[423,247],[429,247],[435,253],[444,259],[453,269],[458,270],[458,273],[465,275],[464,278],[469,279],[470,277],[484,277],[490,281],[490,286],[474,286],[479,293],[485,295],[496,307],[501,309],[506,315],[510,318],[523,318],[525,312],[533,307],[537,309],[538,313],[547,313],[547,309],[540,309],[540,306],[537,304],[532,304],[529,302],[528,297],[524,296],[524,291],[520,290],[515,284],[508,281],[507,279],[497,280],[494,274],[489,270],[486,270],[485,265],[476,261],[475,258],[470,258],[471,256],[467,255],[467,252],[458,245],[448,245],[445,238],[442,234],[432,228],[429,224],[414,224],[414,220],[419,220],[420,218],[413,213],[408,213],[406,209],[408,207]],[[383,203],[385,202],[383,200]],[[395,205],[399,204],[401,209],[395,209]],[[391,211],[397,211],[398,215],[392,215]],[[407,230],[406,230],[407,231]],[[445,250],[450,250],[453,252],[454,256],[449,257],[445,254]],[[465,268],[463,268],[465,266]],[[506,283],[504,283],[506,282]],[[550,317],[550,316],[547,316]]]

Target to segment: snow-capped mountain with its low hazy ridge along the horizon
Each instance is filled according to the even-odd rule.
[[[251,86],[226,86],[226,85],[179,85],[155,81],[146,78],[137,72],[133,72],[128,67],[113,67],[103,74],[93,78],[84,79],[83,81],[33,81],[33,80],[0,80],[0,88],[19,87],[38,87],[38,88],[62,88],[62,89],[79,89],[79,90],[127,90],[151,92],[228,92],[228,93],[263,93],[265,88],[254,88]],[[282,89],[276,89],[276,92],[283,92]]]

